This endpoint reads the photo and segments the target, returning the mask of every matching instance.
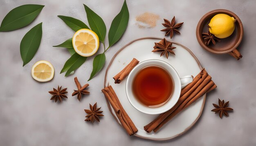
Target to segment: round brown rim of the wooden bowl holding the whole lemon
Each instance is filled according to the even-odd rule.
[[[202,25],[202,22],[209,17],[209,15],[212,15],[213,13],[216,13],[216,12],[219,12],[219,13],[228,13],[229,15],[231,15],[232,17],[234,17],[238,23],[236,23],[236,27],[239,27],[241,32],[240,32],[240,36],[239,36],[239,39],[238,41],[235,43],[235,45],[230,48],[230,49],[227,49],[227,50],[224,50],[224,51],[217,51],[217,50],[213,50],[211,48],[209,48],[206,44],[204,44],[204,42],[202,42],[202,40],[200,39],[200,33],[199,33],[199,29]],[[200,46],[202,46],[205,50],[211,52],[211,53],[216,53],[216,54],[225,54],[225,53],[229,53],[231,51],[233,51],[234,49],[236,49],[239,44],[241,43],[242,41],[242,38],[243,38],[243,24],[242,24],[242,21],[240,20],[240,18],[233,12],[229,11],[229,10],[226,10],[226,9],[216,9],[216,10],[212,10],[212,11],[209,11],[208,13],[204,14],[202,16],[202,18],[199,20],[198,22],[198,25],[196,27],[196,38],[200,44]],[[239,34],[237,34],[239,35]]]

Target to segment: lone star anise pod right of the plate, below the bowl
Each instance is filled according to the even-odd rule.
[[[213,106],[215,107],[213,110],[213,112],[215,113],[219,113],[220,114],[220,118],[222,118],[222,115],[226,115],[229,116],[229,114],[227,113],[227,111],[233,111],[233,108],[228,108],[227,106],[229,105],[229,102],[224,103],[224,100],[220,100],[219,99],[219,105],[217,104],[213,104]]]

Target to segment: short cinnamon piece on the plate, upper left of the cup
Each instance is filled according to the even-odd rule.
[[[115,84],[121,83],[137,64],[139,64],[139,61],[133,58],[132,61],[122,71],[113,77]]]

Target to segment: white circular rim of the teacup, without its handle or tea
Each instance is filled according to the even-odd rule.
[[[126,80],[126,97],[127,97],[127,99],[128,99],[128,101],[130,102],[130,104],[137,110],[137,111],[140,111],[141,113],[146,113],[146,114],[149,114],[149,115],[156,115],[156,114],[160,114],[160,113],[164,113],[164,112],[166,112],[166,111],[168,111],[168,110],[170,110],[176,103],[177,103],[177,101],[179,100],[179,97],[180,97],[180,91],[181,91],[181,82],[178,82],[178,83],[175,83],[175,88],[177,88],[176,89],[176,91],[173,91],[173,93],[172,93],[172,100],[171,99],[169,99],[165,104],[163,104],[162,106],[159,106],[159,107],[148,107],[148,108],[151,108],[151,109],[155,109],[155,110],[151,110],[150,112],[149,111],[144,111],[144,110],[141,110],[141,108],[139,108],[139,107],[137,107],[132,101],[131,101],[131,99],[130,99],[130,97],[129,97],[129,95],[128,95],[128,82],[132,82],[133,80],[133,78],[132,79],[130,79],[130,75],[132,75],[132,73],[137,69],[137,68],[139,68],[139,67],[141,67],[141,64],[143,65],[145,62],[149,62],[149,61],[155,61],[155,62],[161,62],[161,63],[164,63],[164,64],[166,64],[167,66],[169,66],[169,69],[172,69],[172,71],[175,73],[175,75],[176,75],[176,77],[178,78],[178,81],[180,81],[180,76],[179,76],[179,74],[177,73],[177,71],[174,69],[174,67],[173,66],[171,66],[171,64],[168,64],[167,62],[165,62],[165,61],[163,61],[163,60],[158,60],[158,59],[150,59],[150,60],[145,60],[145,61],[142,61],[142,62],[140,62],[139,64],[137,64],[137,66],[135,66],[133,69],[132,69],[132,71],[129,73],[129,75],[128,75],[128,77],[127,77],[127,80]],[[144,66],[145,67],[145,66]],[[171,74],[171,71],[168,71],[168,69],[165,69],[169,74]],[[135,75],[136,75],[136,73],[135,73]],[[171,74],[171,76],[173,77],[173,74]],[[174,79],[173,79],[174,80]],[[177,80],[177,79],[176,79]],[[174,82],[174,81],[173,81]],[[130,83],[130,84],[132,84],[132,83]],[[175,88],[173,89],[173,90],[175,90]],[[176,97],[174,97],[174,93],[176,92]],[[132,94],[132,93],[131,93]],[[134,97],[133,96],[133,98],[136,98],[136,97]],[[137,99],[135,99],[135,101],[137,102],[137,103],[139,103],[139,101],[137,100]],[[169,103],[169,104],[168,104]],[[141,103],[139,103],[141,106],[145,106],[145,105],[143,105],[143,104],[141,104]],[[163,108],[165,106],[165,108],[164,109],[162,109],[161,111],[159,110],[159,108]]]

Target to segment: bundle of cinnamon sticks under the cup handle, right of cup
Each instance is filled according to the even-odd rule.
[[[207,93],[216,87],[216,84],[211,80],[211,76],[208,75],[205,69],[202,69],[202,71],[193,79],[193,82],[182,89],[177,104],[175,104],[169,111],[160,114],[155,120],[144,126],[144,130],[148,133],[152,131],[157,132],[164,126],[164,124],[177,115],[177,113],[180,113],[180,111],[183,111],[204,93]]]

